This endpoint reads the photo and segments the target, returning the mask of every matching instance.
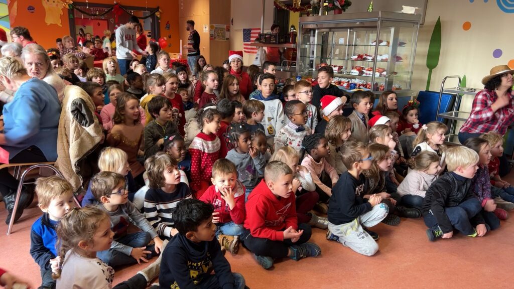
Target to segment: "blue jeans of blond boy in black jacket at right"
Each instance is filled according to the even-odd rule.
[[[452,226],[465,235],[471,235],[474,233],[474,228],[469,222],[469,219],[473,218],[476,214],[479,214],[481,210],[482,206],[476,198],[470,198],[455,207],[445,207],[446,215],[448,216]],[[425,225],[429,228],[437,225],[437,220],[432,213],[425,215],[423,219],[425,221]]]

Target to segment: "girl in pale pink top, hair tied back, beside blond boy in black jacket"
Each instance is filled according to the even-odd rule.
[[[403,205],[421,209],[428,188],[439,176],[439,156],[434,152],[424,151],[411,158],[409,162],[412,170],[398,186],[397,192]]]

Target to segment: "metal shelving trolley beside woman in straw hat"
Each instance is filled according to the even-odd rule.
[[[451,88],[445,88],[445,82],[446,80],[450,78],[457,78],[458,83],[457,87],[451,87]],[[479,92],[481,89],[478,88],[470,88],[470,87],[460,87],[461,86],[461,77],[458,75],[451,75],[443,78],[443,82],[441,82],[441,90],[439,91],[439,102],[437,103],[437,118],[444,118],[448,119],[449,122],[449,132],[446,137],[446,142],[448,143],[454,143],[456,145],[460,145],[461,142],[458,141],[458,131],[455,131],[456,129],[456,122],[457,121],[466,121],[469,118],[470,113],[464,112],[460,110],[461,107],[461,100],[463,95],[475,95],[477,92]],[[441,105],[441,99],[443,97],[443,94],[453,94],[455,95],[455,100],[453,102],[453,109],[449,112],[440,112],[440,105]]]

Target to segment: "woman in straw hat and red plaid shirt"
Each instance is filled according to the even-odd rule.
[[[461,143],[490,131],[505,135],[508,126],[514,121],[512,73],[514,69],[498,65],[491,68],[490,74],[482,79],[484,89],[475,95],[469,118],[458,133]]]

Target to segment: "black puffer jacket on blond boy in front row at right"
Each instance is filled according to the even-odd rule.
[[[453,230],[453,227],[445,213],[445,208],[455,207],[470,198],[476,198],[471,188],[471,179],[463,179],[453,172],[447,172],[428,188],[421,205],[421,213],[425,216],[432,210],[443,233],[448,233]],[[479,202],[478,199],[476,201]],[[484,223],[480,212],[471,218],[473,226]]]

